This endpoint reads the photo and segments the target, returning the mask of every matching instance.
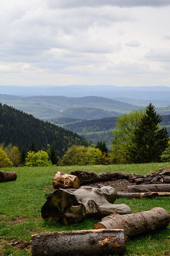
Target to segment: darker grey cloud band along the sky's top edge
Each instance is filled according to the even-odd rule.
[[[119,7],[135,7],[135,6],[153,6],[161,7],[170,5],[169,0],[49,0],[51,8],[78,8],[80,6],[119,6]]]

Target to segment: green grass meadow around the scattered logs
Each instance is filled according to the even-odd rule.
[[[61,226],[56,222],[45,222],[41,207],[46,202],[45,194],[53,192],[52,185],[56,172],[70,174],[73,170],[93,172],[117,171],[148,174],[170,163],[108,165],[108,166],[52,166],[3,168],[15,171],[14,182],[0,183],[0,256],[30,256],[31,235],[41,232],[92,229],[99,220],[84,220],[80,224]],[[133,212],[162,207],[170,212],[170,198],[118,198],[116,204],[125,203]],[[137,236],[126,243],[125,256],[170,255],[170,225],[159,231]]]

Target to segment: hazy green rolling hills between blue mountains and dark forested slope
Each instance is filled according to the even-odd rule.
[[[120,116],[124,112],[139,108],[139,106],[97,96],[81,98],[65,96],[19,97],[0,94],[0,102],[32,114],[39,119],[59,117],[97,119]]]

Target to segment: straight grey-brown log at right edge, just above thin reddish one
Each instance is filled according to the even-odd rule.
[[[127,186],[127,191],[135,192],[170,192],[170,184],[147,184]]]

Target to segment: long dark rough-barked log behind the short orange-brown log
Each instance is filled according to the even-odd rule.
[[[101,172],[101,173],[94,173],[94,172],[86,172],[83,170],[76,170],[71,172],[72,175],[75,175],[80,180],[80,185],[90,184],[94,182],[102,182],[108,180],[120,180],[125,179],[129,180],[130,182],[134,182],[136,178],[143,178],[143,175],[133,174],[133,173],[126,173],[126,172]]]

